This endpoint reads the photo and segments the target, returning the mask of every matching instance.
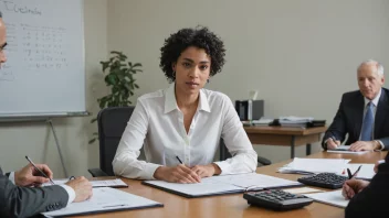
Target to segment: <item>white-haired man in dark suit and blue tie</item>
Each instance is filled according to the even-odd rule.
[[[351,151],[388,150],[389,148],[389,90],[382,88],[383,67],[367,61],[357,70],[359,90],[346,92],[322,145],[336,149],[348,134]]]

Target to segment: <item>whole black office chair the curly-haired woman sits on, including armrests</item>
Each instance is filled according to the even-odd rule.
[[[93,177],[114,176],[112,162],[119,145],[122,134],[127,122],[133,115],[134,106],[112,107],[101,110],[97,115],[98,140],[99,140],[99,168],[90,168]],[[230,157],[223,140],[220,142],[220,160]],[[140,152],[140,160],[145,160],[145,154]],[[271,162],[264,157],[257,157],[260,165],[270,165]]]

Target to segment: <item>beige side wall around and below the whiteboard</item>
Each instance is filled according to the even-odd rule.
[[[98,62],[107,56],[106,22],[107,1],[85,0],[86,106],[92,112],[98,111],[95,99],[105,90]],[[70,175],[88,175],[88,167],[98,166],[98,145],[87,144],[95,131],[90,120],[91,117],[53,120]],[[30,155],[36,163],[48,163],[54,177],[64,177],[53,134],[45,123],[0,123],[0,164],[4,171],[27,165],[24,155]]]

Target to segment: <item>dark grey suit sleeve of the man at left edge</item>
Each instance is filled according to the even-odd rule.
[[[66,206],[69,195],[61,186],[18,187],[0,167],[0,217],[30,217]]]

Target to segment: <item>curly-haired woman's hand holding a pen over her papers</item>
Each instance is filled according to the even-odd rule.
[[[159,166],[154,177],[169,183],[200,183],[201,178],[195,171],[183,164],[177,166]]]

